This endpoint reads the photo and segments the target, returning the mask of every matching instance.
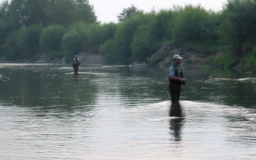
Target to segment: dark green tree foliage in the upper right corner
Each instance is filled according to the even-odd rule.
[[[256,36],[256,3],[253,0],[228,0],[222,24],[216,31],[220,42],[237,47]]]

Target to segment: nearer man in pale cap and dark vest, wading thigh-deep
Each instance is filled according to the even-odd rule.
[[[169,92],[171,94],[172,103],[176,103],[179,101],[180,92],[183,91],[183,87],[181,84],[185,84],[185,78],[183,76],[181,68],[179,65],[181,64],[181,59],[179,55],[174,55],[173,60],[174,63],[169,68]]]

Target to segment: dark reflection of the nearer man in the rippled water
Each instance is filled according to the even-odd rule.
[[[182,107],[179,103],[172,103],[170,107],[170,134],[174,136],[175,141],[181,140],[181,127],[184,123]]]

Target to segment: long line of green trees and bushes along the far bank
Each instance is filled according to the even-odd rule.
[[[256,71],[256,0],[228,0],[222,11],[201,5],[173,6],[148,13],[134,5],[119,22],[98,22],[87,0],[12,0],[0,6],[0,58],[49,61],[99,49],[110,64],[150,61],[162,43],[193,48],[210,57],[208,65],[240,64]]]

